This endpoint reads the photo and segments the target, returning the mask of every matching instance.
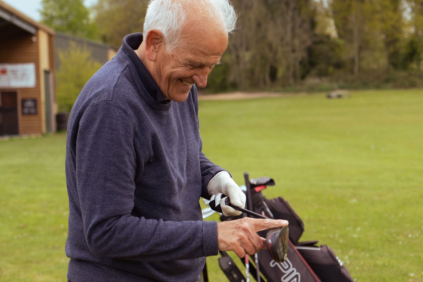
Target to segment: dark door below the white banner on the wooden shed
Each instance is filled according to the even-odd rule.
[[[1,92],[0,96],[0,135],[18,134],[17,93]]]

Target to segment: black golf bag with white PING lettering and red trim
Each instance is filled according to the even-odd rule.
[[[246,174],[246,182],[248,174]],[[250,257],[249,272],[256,281],[267,282],[353,282],[348,270],[329,246],[316,245],[318,241],[299,242],[304,232],[304,223],[298,214],[282,197],[266,199],[261,192],[266,186],[275,185],[275,181],[268,177],[248,180],[246,183],[247,206],[250,210],[272,219],[286,219],[289,222],[288,257],[283,263],[276,263],[267,250],[258,252],[257,260]],[[233,220],[241,216],[221,216],[220,220]],[[266,238],[266,231],[259,233]],[[231,282],[245,282],[242,272],[236,267],[225,252],[220,252],[220,267]],[[241,259],[244,265],[246,262]],[[255,262],[258,261],[259,274],[257,277]]]

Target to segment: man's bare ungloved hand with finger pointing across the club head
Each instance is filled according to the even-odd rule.
[[[266,249],[266,239],[257,232],[261,230],[288,226],[283,219],[253,219],[244,217],[217,223],[217,241],[220,251],[233,251],[238,257],[254,255]]]

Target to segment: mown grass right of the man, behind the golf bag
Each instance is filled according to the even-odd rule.
[[[302,240],[331,246],[356,281],[423,281],[423,91],[201,101],[201,131],[238,183],[274,178],[266,196],[285,197]]]

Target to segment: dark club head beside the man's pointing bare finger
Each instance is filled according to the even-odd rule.
[[[283,263],[288,254],[288,227],[273,228],[267,231],[266,244],[273,260]]]

